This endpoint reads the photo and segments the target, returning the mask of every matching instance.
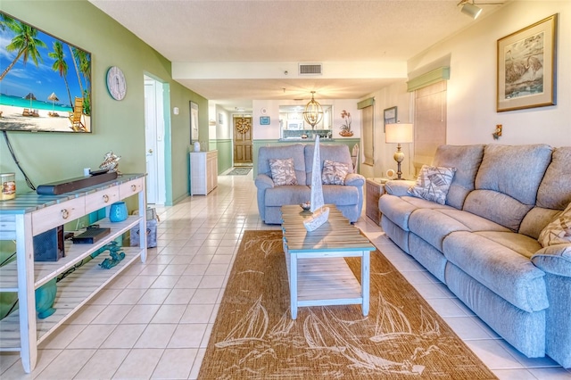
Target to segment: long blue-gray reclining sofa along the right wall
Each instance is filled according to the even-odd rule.
[[[568,217],[571,147],[443,145],[432,165],[456,169],[445,204],[387,182],[386,235],[518,351],[571,367],[571,244],[538,242]]]

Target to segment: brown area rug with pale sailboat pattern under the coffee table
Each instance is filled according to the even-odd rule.
[[[370,268],[368,317],[348,305],[293,320],[281,231],[245,231],[198,378],[497,378],[378,251]]]

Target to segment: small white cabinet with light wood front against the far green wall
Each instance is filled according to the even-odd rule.
[[[206,195],[218,186],[218,151],[190,153],[190,194]]]

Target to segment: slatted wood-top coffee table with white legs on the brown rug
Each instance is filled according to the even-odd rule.
[[[363,315],[368,315],[369,256],[375,245],[334,204],[327,207],[329,219],[312,232],[303,227],[310,211],[298,205],[281,208],[293,319],[302,306],[361,304]],[[345,257],[360,257],[360,283]]]

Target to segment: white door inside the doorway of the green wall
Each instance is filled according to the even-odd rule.
[[[164,204],[164,106],[162,83],[145,75],[146,202]]]

